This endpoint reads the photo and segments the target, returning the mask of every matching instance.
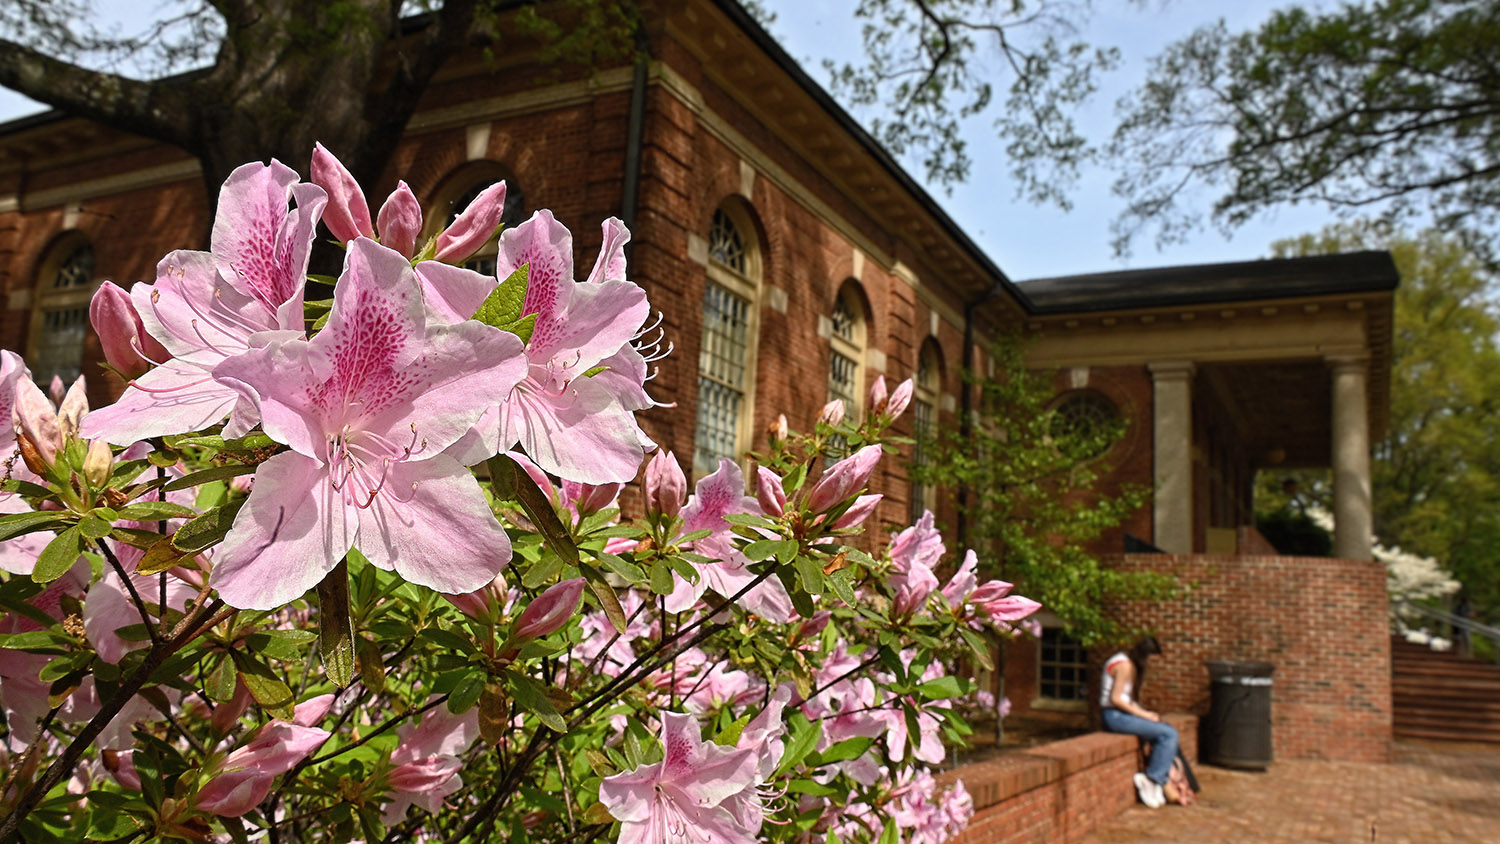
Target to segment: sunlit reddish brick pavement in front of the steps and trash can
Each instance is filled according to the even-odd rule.
[[[1500,841],[1500,747],[1398,742],[1390,765],[1198,766],[1192,808],[1136,805],[1080,844]]]

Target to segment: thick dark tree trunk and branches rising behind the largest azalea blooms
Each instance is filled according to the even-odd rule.
[[[502,18],[507,6],[518,4],[166,0],[136,34],[120,34],[92,22],[90,0],[6,0],[0,85],[186,150],[202,162],[210,196],[246,160],[306,171],[316,141],[374,186],[422,93],[465,48],[522,36],[542,40],[544,58],[588,61],[634,48],[634,4],[624,0]]]

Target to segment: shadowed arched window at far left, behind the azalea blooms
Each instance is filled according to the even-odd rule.
[[[46,250],[38,267],[27,361],[44,388],[54,375],[66,384],[82,375],[93,292],[93,244],[76,231],[68,232]]]

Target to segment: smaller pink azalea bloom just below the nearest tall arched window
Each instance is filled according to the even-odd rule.
[[[687,612],[706,589],[730,598],[754,580],[756,576],[747,568],[748,561],[735,550],[730,525],[724,520],[730,513],[760,514],[760,504],[747,496],[744,489],[744,472],[738,463],[728,459],[718,462],[714,474],[698,481],[693,498],[682,507],[682,534],[712,531],[693,543],[693,552],[710,558],[711,562],[698,564],[698,583],[688,583],[681,574],[672,576],[675,588],[666,597],[668,612]],[[750,589],[740,598],[740,606],[780,624],[792,621],[796,615],[792,597],[776,577],[768,577]]]

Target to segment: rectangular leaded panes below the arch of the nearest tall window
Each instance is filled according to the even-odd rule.
[[[698,352],[698,430],[693,471],[704,477],[718,460],[740,459],[740,415],[746,400],[750,301],[708,282],[704,342]]]

